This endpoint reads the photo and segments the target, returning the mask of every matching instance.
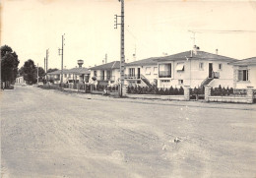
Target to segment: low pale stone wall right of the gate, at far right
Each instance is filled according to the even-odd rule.
[[[236,102],[248,103],[246,96],[209,96],[208,101],[212,102]]]

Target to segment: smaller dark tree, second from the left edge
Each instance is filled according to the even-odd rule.
[[[32,85],[37,81],[37,70],[32,59],[24,63],[24,66],[19,70],[19,73],[24,77],[27,84]]]

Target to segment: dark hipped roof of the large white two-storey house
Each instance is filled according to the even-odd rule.
[[[233,59],[233,58],[230,58],[230,57],[225,57],[225,56],[222,56],[222,55],[213,54],[213,53],[209,53],[209,52],[205,52],[205,51],[197,51],[197,54],[195,55],[193,53],[192,57],[191,57],[191,50],[190,51],[185,51],[185,52],[180,52],[180,53],[169,55],[169,56],[159,57],[157,59],[157,61],[158,62],[161,62],[161,61],[177,61],[177,60],[186,60],[187,58],[190,58],[190,59],[204,59],[204,60],[209,60],[209,61],[226,61],[226,62],[237,61],[237,59]]]

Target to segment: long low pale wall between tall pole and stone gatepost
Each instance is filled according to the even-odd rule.
[[[184,95],[158,95],[158,94],[126,94],[130,98],[162,99],[162,100],[185,100]]]

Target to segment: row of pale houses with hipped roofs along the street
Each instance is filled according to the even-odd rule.
[[[61,71],[49,73],[50,79],[59,81]],[[93,68],[74,68],[63,71],[64,83],[84,82],[111,86],[117,85],[120,78],[120,62],[95,66]],[[193,50],[152,57],[125,64],[125,85],[157,86],[158,88],[190,86],[198,88],[210,85],[213,88],[228,87],[245,89],[256,87],[256,57],[237,60],[209,53],[194,46]]]

